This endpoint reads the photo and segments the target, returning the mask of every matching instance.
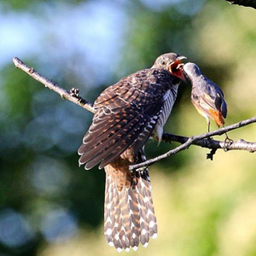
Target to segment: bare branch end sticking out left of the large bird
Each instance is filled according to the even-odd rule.
[[[95,110],[90,104],[90,102],[87,102],[86,100],[82,99],[80,96],[75,96],[73,94],[70,94],[67,92],[67,90],[62,89],[54,82],[50,81],[49,79],[44,78],[40,73],[38,73],[33,67],[28,67],[23,61],[20,61],[19,58],[15,57],[13,59],[15,63],[15,67],[20,68],[27,74],[29,74],[33,79],[38,80],[41,84],[44,84],[45,87],[49,88],[49,90],[54,90],[57,94],[61,96],[61,98],[66,99],[70,102],[73,102],[77,105],[79,105],[82,108],[87,109],[88,111],[94,113]]]

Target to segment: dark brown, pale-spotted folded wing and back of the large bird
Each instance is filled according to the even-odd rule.
[[[146,69],[121,79],[96,99],[96,114],[79,148],[79,164],[100,168],[119,157],[139,138],[146,143],[154,130],[170,86],[167,73]],[[142,136],[144,134],[144,136]],[[140,149],[140,148],[137,148]]]

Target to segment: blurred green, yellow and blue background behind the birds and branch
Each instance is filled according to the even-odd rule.
[[[44,5],[51,15],[58,15],[66,8],[68,20],[68,8],[72,12],[93,3],[117,5],[123,14],[119,16],[122,32],[116,38],[119,46],[108,45],[116,48],[116,58],[105,60],[111,67],[105,73],[91,69],[94,58],[83,61],[75,45],[65,55],[67,42],[57,40],[49,14],[42,11]],[[6,0],[1,4],[0,15],[15,14],[16,27],[22,14],[37,17],[39,21],[31,26],[39,31],[47,24],[40,31],[44,52],[14,49],[12,57],[19,52],[40,73],[66,89],[78,87],[91,102],[106,86],[174,51],[197,63],[224,90],[227,125],[255,115],[254,9],[223,0]],[[101,19],[107,22],[108,14]],[[58,22],[61,26],[63,20]],[[0,40],[4,41],[11,31],[1,32],[3,27]],[[86,37],[85,33],[79,41],[86,44]],[[62,50],[63,57],[50,55],[50,48]],[[5,50],[0,48],[0,59]],[[0,255],[118,255],[103,237],[104,172],[78,166],[76,152],[91,113],[62,101],[16,70],[11,57],[0,68]],[[84,73],[87,79],[79,75]],[[189,93],[189,84],[182,84],[166,131],[191,136],[207,130]],[[232,131],[230,137],[255,141],[255,127]],[[174,146],[148,142],[148,157]],[[218,151],[210,161],[207,151],[191,147],[150,167],[159,236],[131,255],[256,255],[255,155]]]

